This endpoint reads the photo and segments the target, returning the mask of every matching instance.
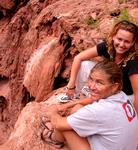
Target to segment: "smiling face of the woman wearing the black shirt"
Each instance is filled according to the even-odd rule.
[[[113,45],[116,54],[124,54],[133,45],[133,33],[119,29],[115,36],[113,36]]]

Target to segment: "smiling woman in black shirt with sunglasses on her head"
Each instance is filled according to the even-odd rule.
[[[107,39],[75,56],[66,93],[80,92],[87,81],[97,56],[115,62],[123,71],[123,91],[134,101],[138,112],[138,27],[123,20],[118,22]]]

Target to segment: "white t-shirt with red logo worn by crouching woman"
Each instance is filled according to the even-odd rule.
[[[92,150],[136,150],[138,118],[124,92],[81,108],[67,121]]]

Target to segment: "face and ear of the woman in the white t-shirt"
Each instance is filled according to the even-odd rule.
[[[99,100],[114,94],[118,88],[116,83],[109,81],[109,75],[103,70],[95,70],[89,76],[88,86],[91,91],[91,98]]]

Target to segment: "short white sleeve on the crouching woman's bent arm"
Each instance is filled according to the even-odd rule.
[[[95,110],[92,108],[92,105],[87,105],[67,117],[69,125],[79,136],[82,137],[87,137],[97,133],[98,120],[99,119],[96,117]]]

